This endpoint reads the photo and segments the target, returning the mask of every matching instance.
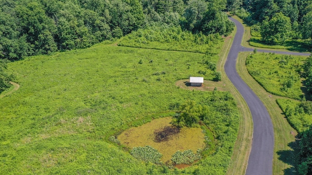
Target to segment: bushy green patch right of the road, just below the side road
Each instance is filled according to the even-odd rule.
[[[247,70],[268,92],[293,99],[304,97],[300,78],[301,66],[307,56],[257,53],[247,57]]]

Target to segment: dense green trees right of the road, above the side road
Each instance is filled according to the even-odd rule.
[[[227,0],[227,10],[252,25],[267,44],[310,39],[312,47],[312,0]]]

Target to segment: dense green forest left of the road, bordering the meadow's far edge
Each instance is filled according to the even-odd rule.
[[[0,59],[87,48],[147,26],[229,34],[226,0],[2,0]]]

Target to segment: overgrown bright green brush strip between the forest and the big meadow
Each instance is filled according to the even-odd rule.
[[[118,46],[217,54],[223,39],[219,34],[203,35],[180,27],[139,29],[123,37]]]

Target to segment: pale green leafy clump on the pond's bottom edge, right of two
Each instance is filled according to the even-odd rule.
[[[200,149],[197,150],[197,154],[194,154],[192,150],[186,150],[184,152],[177,151],[174,155],[172,155],[171,160],[176,164],[191,164],[195,160],[199,160],[201,158],[200,152]]]

